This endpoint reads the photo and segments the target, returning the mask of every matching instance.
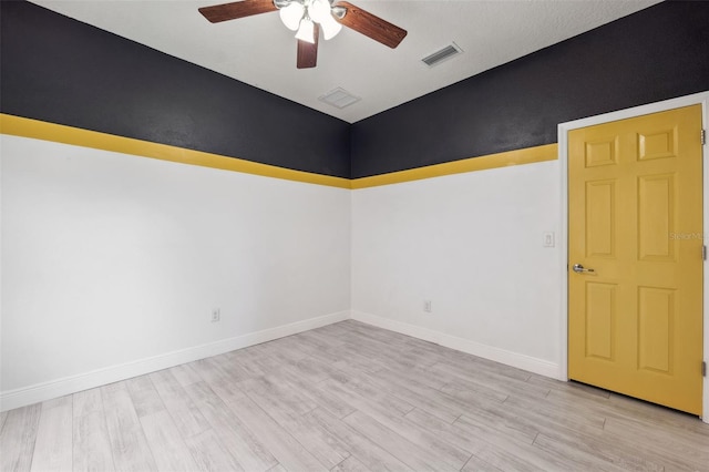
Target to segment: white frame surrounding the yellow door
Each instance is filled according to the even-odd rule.
[[[568,381],[568,132],[579,127],[593,126],[612,121],[631,119],[649,113],[664,112],[689,105],[701,105],[702,127],[709,133],[709,91],[665,100],[647,105],[634,106],[596,116],[561,123],[558,125],[558,160],[561,172],[561,225],[559,225],[559,279],[561,290],[561,356],[558,379]],[[699,136],[697,136],[699,138]],[[703,235],[705,245],[709,246],[709,136],[702,146],[702,203],[703,203]],[[703,352],[702,358],[709,365],[709,261],[703,261]],[[709,377],[702,381],[702,415],[703,422],[709,423]]]

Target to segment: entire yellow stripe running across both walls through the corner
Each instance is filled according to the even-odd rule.
[[[390,174],[349,179],[314,174],[310,172],[294,171],[275,165],[245,161],[237,157],[227,157],[202,151],[186,150],[184,147],[171,146],[167,144],[151,143],[150,141],[116,136],[113,134],[13,116],[4,113],[0,113],[0,133],[52,141],[75,146],[93,147],[102,151],[112,151],[182,164],[199,165],[203,167],[242,172],[245,174],[261,175],[265,177],[275,177],[351,189],[399,184],[403,182],[484,171],[489,168],[507,167],[512,165],[533,164],[544,161],[554,161],[557,158],[557,145],[546,144],[543,146],[526,147],[523,150],[507,151],[499,154],[490,154],[486,156],[429,165],[409,171],[399,171]]]

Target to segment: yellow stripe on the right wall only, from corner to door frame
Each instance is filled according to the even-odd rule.
[[[486,156],[470,157],[461,161],[411,168],[409,171],[399,171],[371,177],[354,178],[351,183],[352,188],[357,189],[399,184],[402,182],[421,181],[423,178],[441,177],[443,175],[462,174],[465,172],[555,161],[558,157],[557,150],[557,144],[545,144],[543,146],[525,147],[523,150],[507,151]]]

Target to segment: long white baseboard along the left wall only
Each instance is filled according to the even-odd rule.
[[[28,404],[38,403],[40,401],[51,400],[53,398],[80,392],[82,390],[130,379],[136,376],[155,372],[157,370],[168,369],[171,367],[204,359],[210,356],[229,352],[235,349],[273,341],[274,339],[296,335],[309,329],[320,328],[349,318],[350,311],[340,311],[302,321],[296,321],[289,325],[278,326],[276,328],[249,332],[247,335],[223,339],[206,345],[166,352],[146,359],[134,360],[119,366],[79,373],[63,379],[56,379],[49,382],[1,392],[0,411],[12,410]]]

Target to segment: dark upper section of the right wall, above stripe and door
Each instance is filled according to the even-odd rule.
[[[354,123],[351,176],[555,143],[558,123],[707,90],[709,1],[659,3]]]

